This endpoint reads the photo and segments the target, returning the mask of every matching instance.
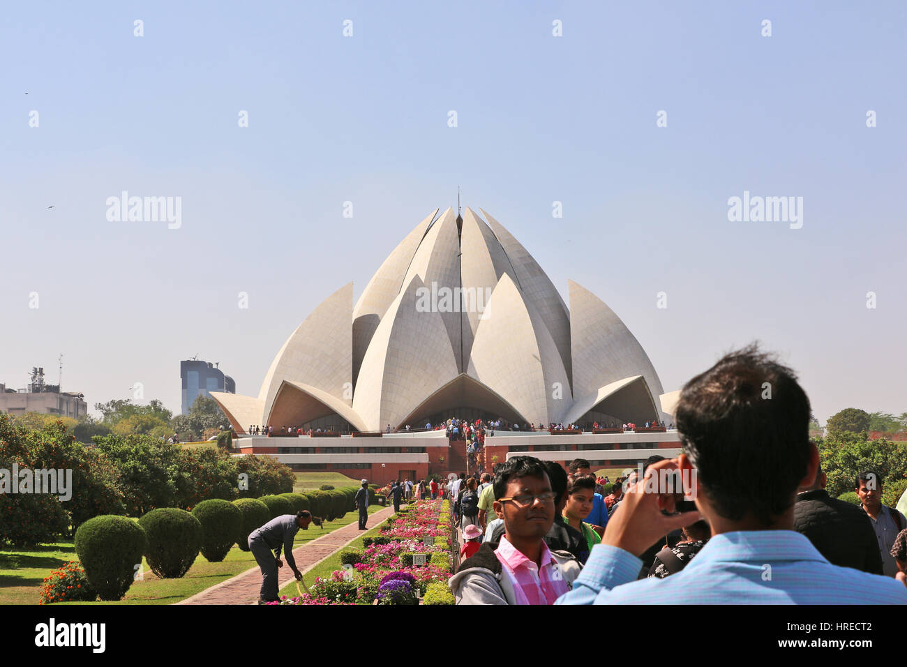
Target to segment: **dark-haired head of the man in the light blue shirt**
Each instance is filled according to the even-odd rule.
[[[721,358],[680,393],[681,442],[710,505],[762,525],[790,508],[809,466],[809,398],[756,345]]]

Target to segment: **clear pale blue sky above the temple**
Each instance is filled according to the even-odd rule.
[[[565,300],[572,279],[608,303],[666,391],[759,339],[823,422],[902,412],[904,25],[897,2],[8,5],[0,382],[56,382],[62,352],[91,406],[141,382],[178,412],[198,354],[255,395],[460,185]],[[107,221],[124,190],[180,196],[180,229]],[[802,229],[728,221],[744,191],[803,197]]]

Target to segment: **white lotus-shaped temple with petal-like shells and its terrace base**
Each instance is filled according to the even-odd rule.
[[[664,393],[614,311],[573,281],[568,309],[486,211],[439,211],[397,245],[356,303],[347,283],[298,326],[257,397],[211,392],[241,451],[378,483],[459,472],[465,444],[422,428],[456,417],[519,425],[486,437],[488,461],[538,452],[632,467],[655,450],[676,453],[676,431],[639,425],[672,421],[678,392]],[[630,422],[638,427],[624,431]],[[579,428],[548,430],[558,423]],[[270,437],[252,426],[271,427]],[[290,428],[306,435],[288,437]]]

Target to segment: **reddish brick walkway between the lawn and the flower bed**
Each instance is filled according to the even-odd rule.
[[[394,507],[390,506],[368,515],[369,529],[374,528],[393,514]],[[308,544],[297,547],[293,550],[293,558],[296,560],[299,572],[306,574],[329,555],[334,554],[337,549],[346,546],[366,532],[359,530],[358,521],[354,521],[350,525],[337,528],[327,535],[322,535]],[[281,559],[283,559],[283,554],[281,554]],[[289,569],[286,561],[278,571],[278,575],[278,591],[295,579],[293,571]],[[306,580],[306,584],[310,586],[314,584],[314,581]],[[256,565],[242,574],[237,574],[225,582],[206,588],[201,593],[196,593],[176,604],[257,604],[260,589],[261,569]]]

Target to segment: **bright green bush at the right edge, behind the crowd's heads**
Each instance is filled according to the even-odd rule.
[[[867,470],[881,476],[883,492],[885,486],[907,479],[907,442],[883,437],[870,440],[865,433],[837,431],[816,438],[815,444],[828,476],[825,488],[834,497],[853,491],[856,476]]]

